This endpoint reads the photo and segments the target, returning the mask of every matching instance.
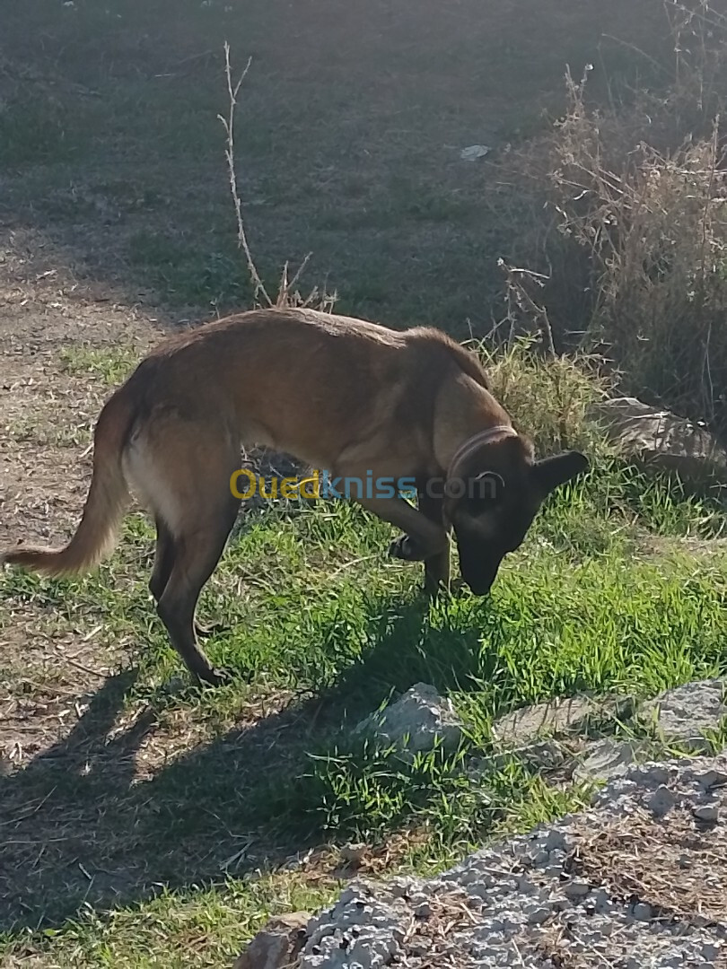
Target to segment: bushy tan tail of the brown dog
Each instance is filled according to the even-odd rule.
[[[68,545],[57,549],[17,548],[0,556],[0,562],[47,576],[64,576],[90,569],[111,552],[129,501],[121,458],[134,411],[128,395],[120,389],[99,415],[94,430],[91,486],[79,527]]]

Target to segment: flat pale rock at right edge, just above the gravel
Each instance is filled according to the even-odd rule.
[[[695,753],[709,753],[706,734],[717,731],[727,714],[725,681],[703,679],[664,690],[641,708],[640,718],[654,724],[668,740],[678,741]]]

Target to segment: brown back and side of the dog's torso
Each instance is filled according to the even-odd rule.
[[[171,337],[126,387],[144,421],[176,408],[237,428],[245,446],[332,467],[383,425],[430,434],[437,392],[458,371],[488,387],[475,355],[439,330],[264,309]]]

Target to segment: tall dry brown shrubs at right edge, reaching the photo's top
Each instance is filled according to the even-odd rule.
[[[580,82],[569,77],[564,118],[517,159],[550,218],[538,220],[529,256],[523,252],[539,273],[506,266],[507,336],[529,320],[546,347],[597,349],[627,391],[727,436],[727,157],[719,126],[727,18],[707,0],[666,8],[675,40],[666,89],[598,110],[587,104],[587,71]]]

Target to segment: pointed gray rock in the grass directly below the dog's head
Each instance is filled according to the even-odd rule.
[[[416,683],[395,703],[366,717],[356,731],[395,743],[407,755],[431,750],[437,740],[448,749],[457,748],[462,738],[452,702],[427,683]]]

